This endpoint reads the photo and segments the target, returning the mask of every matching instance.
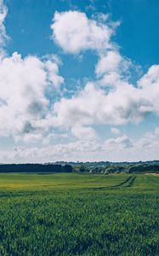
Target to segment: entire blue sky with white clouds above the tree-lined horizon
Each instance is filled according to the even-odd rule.
[[[0,0],[0,163],[158,160],[159,2]]]

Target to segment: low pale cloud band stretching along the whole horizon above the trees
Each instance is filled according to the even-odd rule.
[[[54,134],[48,136],[54,137]],[[15,147],[12,150],[1,150],[0,162],[154,160],[158,157],[158,151],[158,135],[155,134],[154,130],[135,140],[123,135],[109,138],[102,143],[97,143],[95,140],[77,140],[74,143],[56,143],[41,148]]]

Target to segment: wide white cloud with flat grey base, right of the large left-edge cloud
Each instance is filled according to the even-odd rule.
[[[150,95],[150,91],[147,94],[145,90],[122,81],[120,86],[109,92],[96,88],[94,83],[88,83],[77,96],[55,102],[54,117],[50,120],[56,126],[138,123],[156,111],[153,95],[157,101],[157,92],[155,94],[151,90]]]

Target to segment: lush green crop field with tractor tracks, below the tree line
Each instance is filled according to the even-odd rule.
[[[159,255],[159,175],[0,174],[0,255]]]

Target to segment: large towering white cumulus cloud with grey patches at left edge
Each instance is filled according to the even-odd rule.
[[[22,59],[14,52],[0,61],[0,136],[37,131],[37,120],[48,113],[48,86],[55,90],[63,82],[58,73],[57,63],[36,56]]]

